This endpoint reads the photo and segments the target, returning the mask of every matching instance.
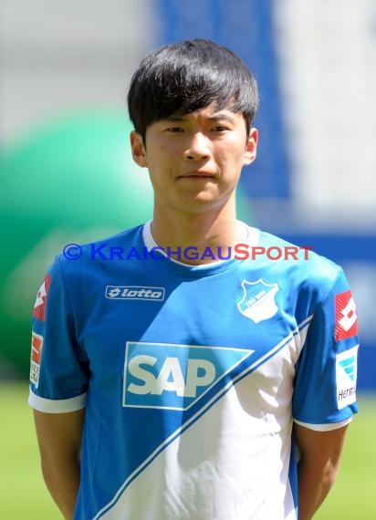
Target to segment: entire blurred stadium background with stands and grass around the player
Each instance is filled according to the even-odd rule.
[[[127,148],[126,92],[147,51],[186,37],[232,48],[256,73],[260,145],[241,218],[313,246],[350,279],[362,413],[317,518],[376,518],[374,0],[2,1],[0,517],[59,518],[26,406],[30,309],[65,244],[150,217],[146,174]]]

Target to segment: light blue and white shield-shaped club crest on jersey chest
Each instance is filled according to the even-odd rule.
[[[242,287],[244,295],[237,303],[237,308],[243,316],[258,323],[277,313],[275,296],[279,290],[278,284],[266,284],[259,278],[256,282],[243,280]]]

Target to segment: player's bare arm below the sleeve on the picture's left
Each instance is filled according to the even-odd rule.
[[[78,494],[84,414],[85,409],[68,413],[34,411],[43,477],[67,520],[73,517]]]

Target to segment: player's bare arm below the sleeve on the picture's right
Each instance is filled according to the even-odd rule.
[[[347,426],[316,432],[294,424],[298,444],[298,520],[310,520],[334,484]]]

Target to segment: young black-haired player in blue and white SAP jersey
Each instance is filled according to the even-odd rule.
[[[66,518],[308,520],[333,484],[356,309],[338,265],[236,220],[256,106],[205,40],[132,78],[152,222],[59,255],[35,308],[29,402]]]

